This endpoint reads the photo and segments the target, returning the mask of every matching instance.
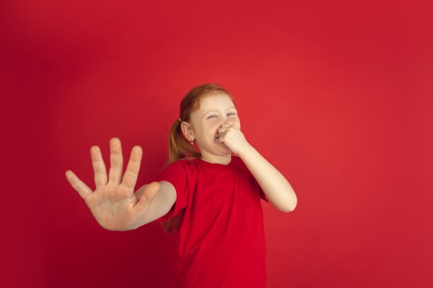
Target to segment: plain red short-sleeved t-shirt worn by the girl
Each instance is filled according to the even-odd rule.
[[[177,160],[156,181],[170,182],[177,194],[156,220],[179,218],[177,288],[266,287],[266,198],[241,158],[227,165]]]

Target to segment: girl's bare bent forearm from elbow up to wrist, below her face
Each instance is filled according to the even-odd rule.
[[[297,197],[291,184],[250,144],[239,154],[263,189],[269,202],[279,211],[290,212],[295,209]]]

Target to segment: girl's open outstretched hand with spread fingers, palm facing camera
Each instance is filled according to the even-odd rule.
[[[131,230],[145,224],[145,215],[149,205],[159,190],[159,182],[151,182],[138,198],[134,194],[142,148],[134,146],[127,170],[122,177],[123,157],[120,140],[110,140],[109,177],[101,151],[98,146],[90,149],[93,171],[95,171],[95,191],[84,184],[71,170],[66,171],[66,179],[84,199],[98,223],[108,230]]]

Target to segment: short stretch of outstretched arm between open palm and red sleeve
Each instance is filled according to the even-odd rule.
[[[176,202],[176,189],[174,186],[167,181],[160,181],[159,184],[159,190],[156,193],[155,198],[151,200],[149,210],[145,215],[142,225],[163,217],[163,215],[167,214],[168,211],[172,209],[174,202]],[[145,191],[147,185],[149,184],[141,186],[135,192],[137,198],[141,198],[141,195],[143,191]]]

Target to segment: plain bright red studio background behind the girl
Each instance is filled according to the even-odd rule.
[[[433,287],[432,7],[351,2],[3,1],[1,287],[173,287],[176,236],[105,231],[64,173],[120,137],[148,183],[207,82],[297,193],[268,288]]]

